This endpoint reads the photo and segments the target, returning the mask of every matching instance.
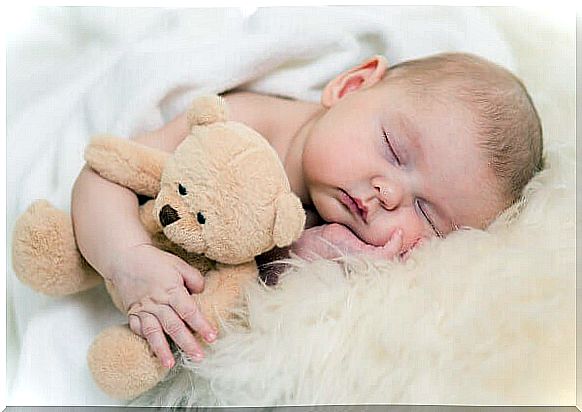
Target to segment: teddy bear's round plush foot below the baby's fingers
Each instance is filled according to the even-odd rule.
[[[168,373],[150,352],[146,340],[127,326],[101,332],[89,349],[88,361],[97,385],[116,399],[134,399]]]

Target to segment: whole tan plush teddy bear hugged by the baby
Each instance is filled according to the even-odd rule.
[[[205,275],[204,291],[192,299],[214,326],[257,278],[254,258],[290,245],[305,224],[274,149],[256,131],[228,121],[226,111],[218,96],[195,99],[190,134],[173,154],[110,136],[93,138],[85,151],[101,176],[152,198],[140,206],[142,224],[153,244]],[[69,295],[103,281],[79,253],[69,214],[45,200],[17,220],[12,252],[18,278],[44,294]],[[105,286],[124,311],[115,285]],[[168,373],[127,325],[102,331],[87,358],[97,385],[118,399],[139,396]]]

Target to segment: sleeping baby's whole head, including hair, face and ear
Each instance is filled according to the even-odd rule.
[[[304,143],[303,174],[322,218],[404,248],[457,227],[485,228],[543,167],[539,117],[506,69],[463,53],[333,79]]]

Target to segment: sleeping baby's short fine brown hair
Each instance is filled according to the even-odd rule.
[[[468,105],[479,145],[507,206],[544,167],[542,126],[523,83],[509,70],[468,53],[442,53],[392,66],[386,80],[438,90]],[[445,89],[443,87],[446,86]]]

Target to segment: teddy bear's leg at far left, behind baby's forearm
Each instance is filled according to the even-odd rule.
[[[12,262],[23,283],[51,296],[80,292],[102,281],[77,249],[69,214],[46,200],[36,201],[18,218]]]

